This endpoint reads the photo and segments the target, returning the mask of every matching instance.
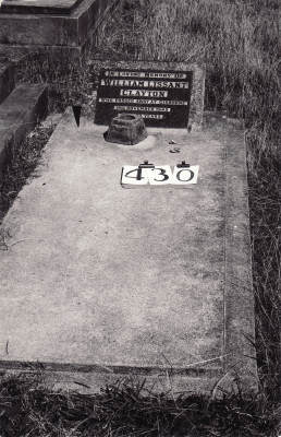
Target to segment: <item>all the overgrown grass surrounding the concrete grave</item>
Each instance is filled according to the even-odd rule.
[[[53,392],[44,370],[1,376],[3,436],[278,436],[281,432],[280,330],[280,72],[279,0],[126,0],[100,31],[83,62],[50,52],[17,66],[17,80],[50,84],[50,114],[71,103],[93,111],[95,58],[170,60],[206,64],[205,109],[243,118],[246,130],[256,350],[259,392],[209,397],[156,395],[145,380],[103,387],[99,395]],[[56,116],[57,119],[59,115]],[[56,118],[53,118],[56,123]],[[3,178],[2,214],[40,160],[53,130],[38,127],[11,151]]]

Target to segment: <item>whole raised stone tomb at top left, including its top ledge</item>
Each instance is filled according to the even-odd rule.
[[[0,54],[51,48],[87,54],[100,23],[119,0],[4,0],[0,8]]]

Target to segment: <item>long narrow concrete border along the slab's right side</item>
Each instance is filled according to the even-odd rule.
[[[235,126],[235,134],[229,126]],[[254,288],[249,236],[248,184],[244,123],[225,122],[225,283],[224,354],[225,371],[235,366],[240,377],[257,377],[255,344]],[[237,137],[237,132],[240,135]],[[243,324],[242,324],[243,320]],[[228,355],[240,351],[233,363]]]

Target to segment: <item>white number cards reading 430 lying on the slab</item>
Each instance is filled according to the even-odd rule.
[[[188,165],[184,161],[174,167],[173,173],[169,165],[152,165],[146,164],[146,162],[138,167],[124,165],[122,168],[121,185],[135,187],[147,186],[148,184],[152,186],[187,186],[197,184],[198,172],[198,165]]]

